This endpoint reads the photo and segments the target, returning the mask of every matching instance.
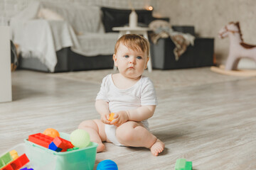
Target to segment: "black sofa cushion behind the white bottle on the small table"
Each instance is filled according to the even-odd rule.
[[[102,7],[103,18],[102,22],[105,27],[105,32],[114,32],[113,27],[121,27],[129,23],[129,14],[132,12],[128,9],[116,9]],[[152,17],[152,11],[147,10],[135,10],[138,15],[138,25],[149,25],[154,20]]]

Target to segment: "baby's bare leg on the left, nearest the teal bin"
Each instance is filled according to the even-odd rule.
[[[78,129],[86,130],[90,134],[90,141],[98,144],[97,152],[102,152],[105,145],[102,142],[106,141],[105,125],[101,120],[85,120],[78,126]]]

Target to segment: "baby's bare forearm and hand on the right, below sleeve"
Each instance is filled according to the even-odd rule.
[[[127,122],[128,120],[141,122],[151,118],[154,115],[156,106],[140,106],[137,109],[129,111],[119,111],[114,115],[114,120],[112,120],[112,125],[122,125],[122,123]]]

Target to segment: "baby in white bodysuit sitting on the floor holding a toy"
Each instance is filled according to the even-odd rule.
[[[118,74],[108,74],[97,94],[95,107],[101,120],[85,120],[79,127],[90,134],[102,152],[102,142],[127,147],[146,147],[158,156],[164,142],[149,132],[148,118],[154,115],[156,93],[151,80],[142,76],[149,61],[149,42],[140,35],[123,35],[114,47]],[[110,113],[114,120],[110,121]]]

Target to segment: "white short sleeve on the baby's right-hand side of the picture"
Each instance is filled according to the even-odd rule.
[[[154,84],[148,77],[145,77],[144,81],[142,81],[141,105],[142,106],[157,105],[157,98],[156,98],[156,91],[154,89]]]

